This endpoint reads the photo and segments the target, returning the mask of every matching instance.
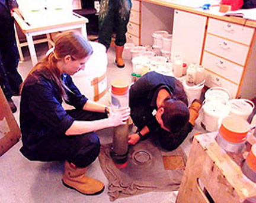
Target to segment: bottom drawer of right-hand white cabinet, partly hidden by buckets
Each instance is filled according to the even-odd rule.
[[[219,77],[213,73],[210,73],[209,71],[205,71],[206,76],[206,86],[207,87],[223,87],[227,89],[230,93],[232,98],[236,97],[236,93],[238,91],[238,85],[231,83],[228,80],[225,80],[222,77]]]

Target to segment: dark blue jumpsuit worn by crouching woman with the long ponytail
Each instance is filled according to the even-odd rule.
[[[71,91],[66,91],[68,104],[74,110],[62,107],[59,89],[49,71],[35,71],[26,79],[21,93],[20,125],[23,155],[31,161],[67,160],[78,167],[91,164],[100,153],[100,140],[94,132],[65,135],[74,120],[98,120],[105,113],[82,110],[87,98],[77,89],[70,76],[62,80]]]

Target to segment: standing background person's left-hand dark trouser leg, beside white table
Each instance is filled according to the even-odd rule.
[[[112,0],[100,1],[98,24],[98,42],[103,44],[108,50],[111,43],[114,24],[114,2]]]

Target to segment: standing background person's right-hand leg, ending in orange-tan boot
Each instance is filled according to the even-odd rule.
[[[130,19],[130,10],[132,2],[130,0],[120,0],[119,8],[114,18],[114,30],[116,31],[116,64],[117,67],[123,68],[123,49],[126,43],[127,24]]]

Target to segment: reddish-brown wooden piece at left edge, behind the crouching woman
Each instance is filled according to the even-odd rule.
[[[14,146],[20,137],[20,128],[0,87],[0,156]]]

